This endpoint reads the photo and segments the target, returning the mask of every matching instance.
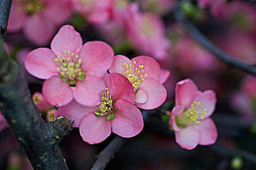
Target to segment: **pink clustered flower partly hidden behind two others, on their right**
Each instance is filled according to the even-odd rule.
[[[130,60],[116,55],[109,72],[118,72],[129,79],[135,92],[135,105],[142,109],[154,109],[166,99],[167,92],[160,83],[169,77],[168,70],[162,71],[158,62],[148,56],[138,56]],[[161,77],[161,79],[160,79]]]

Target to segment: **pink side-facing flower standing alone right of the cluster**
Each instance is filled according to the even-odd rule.
[[[196,148],[198,144],[214,144],[217,128],[209,117],[217,102],[215,92],[201,92],[191,79],[185,79],[176,84],[175,102],[170,124],[175,132],[176,142],[188,150]]]

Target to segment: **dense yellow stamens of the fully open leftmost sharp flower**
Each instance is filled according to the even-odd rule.
[[[62,81],[69,81],[70,85],[76,85],[76,81],[82,81],[85,72],[82,72],[81,62],[78,54],[64,50],[62,54],[57,52],[57,58],[54,59],[59,71],[59,77]]]

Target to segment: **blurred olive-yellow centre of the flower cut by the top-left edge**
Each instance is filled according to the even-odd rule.
[[[44,0],[18,0],[17,4],[18,10],[25,9],[26,13],[31,15],[40,12],[45,6]]]

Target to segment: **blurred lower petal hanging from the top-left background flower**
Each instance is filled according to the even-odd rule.
[[[30,16],[23,29],[28,40],[36,45],[46,45],[55,33],[55,27],[42,15]]]

